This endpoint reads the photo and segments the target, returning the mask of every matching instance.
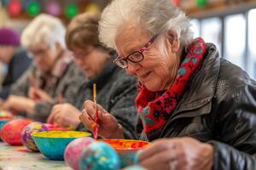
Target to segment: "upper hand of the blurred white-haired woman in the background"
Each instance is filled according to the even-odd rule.
[[[52,97],[50,97],[49,94],[47,94],[44,90],[40,88],[34,88],[34,87],[29,88],[28,97],[36,101],[38,100],[41,100],[44,102],[53,101]]]

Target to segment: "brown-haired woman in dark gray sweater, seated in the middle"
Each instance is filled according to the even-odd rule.
[[[96,83],[96,101],[111,114],[100,123],[108,127],[108,122],[119,122],[119,129],[124,131],[122,137],[136,138],[137,110],[134,99],[137,95],[137,79],[113,64],[113,50],[99,42],[99,20],[98,14],[79,14],[67,27],[67,48],[73,51],[74,59],[89,80],[79,89],[75,105],[55,105],[48,122],[81,130],[84,126],[82,123],[79,125],[79,116],[84,99],[93,98],[92,88],[93,83]],[[104,137],[117,138],[113,133],[117,129],[109,128],[113,131],[106,133]]]

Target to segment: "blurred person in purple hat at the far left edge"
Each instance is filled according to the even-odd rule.
[[[7,73],[3,79],[0,98],[7,99],[10,87],[31,65],[32,59],[27,57],[24,48],[20,48],[20,35],[12,28],[0,29],[0,61],[7,65]]]

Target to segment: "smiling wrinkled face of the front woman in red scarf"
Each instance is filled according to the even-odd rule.
[[[119,30],[115,45],[119,57],[125,58],[134,51],[140,50],[151,39],[146,31],[135,26],[126,26]],[[150,91],[161,91],[168,88],[177,75],[179,58],[172,51],[172,43],[166,41],[167,56],[160,53],[158,46],[160,36],[143,52],[144,59],[139,63],[128,61],[126,71],[135,75]]]

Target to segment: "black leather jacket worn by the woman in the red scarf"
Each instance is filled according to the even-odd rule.
[[[256,169],[256,82],[207,45],[201,71],[159,138],[189,136],[212,144],[213,169]],[[143,132],[141,139],[147,140]]]

